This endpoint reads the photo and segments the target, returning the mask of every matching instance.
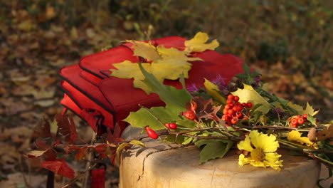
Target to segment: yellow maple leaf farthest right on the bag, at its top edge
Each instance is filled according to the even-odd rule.
[[[216,39],[211,41],[211,43],[206,43],[208,41],[207,33],[196,33],[194,38],[191,40],[185,41],[185,51],[191,52],[203,52],[206,50],[215,50],[220,44]]]

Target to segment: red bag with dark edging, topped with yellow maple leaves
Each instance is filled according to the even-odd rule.
[[[162,45],[167,48],[184,49],[185,38],[171,36],[152,40],[154,46]],[[195,53],[203,61],[192,62],[186,86],[196,84],[203,86],[204,79],[214,80],[218,75],[228,83],[231,78],[243,72],[243,61],[231,54],[221,55],[216,51]],[[79,65],[68,66],[60,70],[63,81],[60,83],[65,93],[61,104],[96,130],[97,125],[105,125],[113,129],[118,123],[125,129],[126,122],[122,121],[132,111],[139,110],[143,105],[147,108],[164,105],[155,93],[147,95],[143,90],[133,87],[132,79],[115,78],[110,76],[112,63],[122,61],[139,62],[139,57],[133,56],[131,44],[86,56]],[[164,84],[181,88],[178,80],[165,80]]]

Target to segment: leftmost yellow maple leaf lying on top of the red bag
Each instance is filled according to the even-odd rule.
[[[142,88],[142,90],[146,91],[146,93],[150,93],[147,85],[142,82],[142,80],[144,80],[144,75],[139,68],[139,63],[132,63],[126,60],[122,63],[114,63],[113,66],[117,69],[110,70],[112,71],[112,76],[118,78],[134,78],[134,88]],[[145,70],[150,72],[150,63],[142,63],[142,66]]]

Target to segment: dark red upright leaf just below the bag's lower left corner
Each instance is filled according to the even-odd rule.
[[[57,114],[55,118],[58,122],[59,132],[65,136],[66,142],[72,144],[78,138],[73,117]]]

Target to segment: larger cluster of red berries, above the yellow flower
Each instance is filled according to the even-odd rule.
[[[222,120],[228,124],[236,124],[240,118],[246,119],[246,117],[243,117],[243,109],[252,108],[253,106],[250,102],[240,103],[237,95],[228,95],[226,103],[223,109]]]

